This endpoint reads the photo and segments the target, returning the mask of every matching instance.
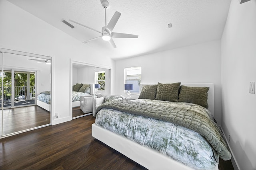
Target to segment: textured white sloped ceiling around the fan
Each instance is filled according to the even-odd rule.
[[[74,20],[101,31],[105,12],[100,0],[8,0],[68,35],[86,41],[101,34],[75,23],[71,29],[61,20]],[[231,0],[108,0],[107,23],[115,11],[120,16],[113,32],[139,35],[138,39],[113,38],[117,48],[97,39],[84,44],[112,59],[134,57],[220,39]],[[70,22],[71,23],[71,22]],[[172,28],[168,28],[172,23]]]

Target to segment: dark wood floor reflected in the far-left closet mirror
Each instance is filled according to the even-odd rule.
[[[0,122],[2,122],[2,116],[0,116]],[[42,109],[39,106],[4,109],[3,135],[8,135],[10,133],[23,131],[50,123],[50,112]]]

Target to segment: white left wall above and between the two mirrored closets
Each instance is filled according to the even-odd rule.
[[[114,65],[110,58],[99,51],[90,49],[6,0],[0,0],[0,23],[0,48],[53,57],[53,125],[72,120],[70,109],[72,60],[110,67]],[[58,118],[54,117],[55,113],[58,113]]]

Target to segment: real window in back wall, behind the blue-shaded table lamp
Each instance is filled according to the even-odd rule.
[[[133,84],[131,93],[140,93],[141,67],[124,68],[124,84]]]

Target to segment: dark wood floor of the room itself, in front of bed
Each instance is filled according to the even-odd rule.
[[[0,139],[0,169],[146,170],[94,139],[92,115]],[[232,170],[230,161],[220,170]]]

